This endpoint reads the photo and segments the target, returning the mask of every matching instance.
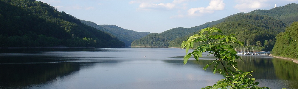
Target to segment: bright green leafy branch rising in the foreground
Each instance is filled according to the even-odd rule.
[[[215,34],[215,32],[218,34]],[[213,86],[207,86],[202,89],[270,89],[268,87],[258,87],[257,85],[259,82],[254,82],[254,78],[248,77],[252,77],[249,73],[253,71],[244,72],[238,69],[237,62],[235,60],[241,58],[237,55],[233,46],[229,44],[235,43],[243,46],[243,42],[238,41],[234,34],[230,34],[228,36],[221,34],[223,33],[218,28],[204,28],[199,34],[190,36],[187,41],[182,42],[181,47],[186,48],[186,55],[183,58],[184,64],[187,63],[187,60],[192,55],[195,60],[198,61],[199,57],[202,57],[202,53],[204,52],[210,53],[209,55],[214,54],[217,58],[210,64],[206,65],[203,69],[206,70],[210,65],[215,64],[213,73],[215,74],[216,71],[219,71],[219,74],[223,75],[225,79],[219,80],[217,84],[214,84]],[[188,53],[188,50],[193,48],[194,42],[204,42],[205,44],[196,47],[193,52]],[[217,69],[218,65],[222,65],[224,70]]]

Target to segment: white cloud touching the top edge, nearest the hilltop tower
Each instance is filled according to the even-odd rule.
[[[238,4],[234,8],[240,10],[241,12],[251,11],[252,9],[258,9],[264,7],[267,0],[236,0]]]

